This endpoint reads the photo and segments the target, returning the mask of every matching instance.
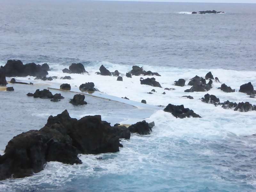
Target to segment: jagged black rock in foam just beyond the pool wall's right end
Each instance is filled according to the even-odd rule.
[[[196,113],[194,113],[193,110],[189,109],[189,108],[184,108],[183,105],[172,105],[169,104],[166,106],[166,108],[164,108],[165,112],[169,112],[172,113],[173,116],[175,116],[176,118],[185,118],[185,117],[199,117],[201,118],[201,116],[197,115]]]

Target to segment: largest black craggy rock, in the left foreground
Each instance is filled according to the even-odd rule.
[[[44,169],[45,163],[82,164],[78,154],[119,151],[119,139],[130,138],[127,128],[111,127],[101,116],[71,118],[65,110],[50,116],[40,130],[15,136],[0,156],[0,180],[23,178]]]

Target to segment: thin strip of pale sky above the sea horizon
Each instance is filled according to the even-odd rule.
[[[117,0],[117,1],[154,1],[154,2],[204,2],[204,3],[256,3],[256,0]]]

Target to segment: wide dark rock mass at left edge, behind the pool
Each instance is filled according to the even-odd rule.
[[[23,65],[20,60],[8,60],[4,67],[5,76],[15,77],[15,76],[46,76],[48,75],[45,66],[36,65],[35,63],[27,63]]]

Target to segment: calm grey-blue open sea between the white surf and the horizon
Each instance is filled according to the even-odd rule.
[[[212,9],[226,14],[177,14]],[[250,71],[255,10],[256,4],[1,0],[0,61]]]

